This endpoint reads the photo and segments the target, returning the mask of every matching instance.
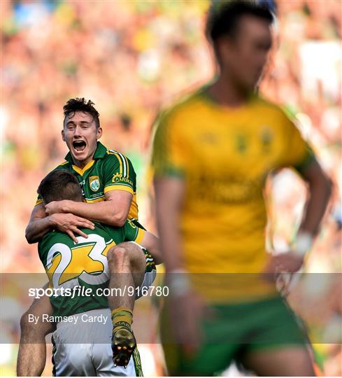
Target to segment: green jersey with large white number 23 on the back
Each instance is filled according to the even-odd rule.
[[[48,274],[49,287],[54,290],[50,297],[54,316],[108,307],[102,290],[108,288],[109,283],[106,257],[109,248],[122,241],[140,243],[145,235],[145,231],[131,221],[126,221],[122,228],[94,224],[94,230],[82,229],[88,237],[78,236],[77,244],[55,230],[45,234],[38,243],[39,258]]]

